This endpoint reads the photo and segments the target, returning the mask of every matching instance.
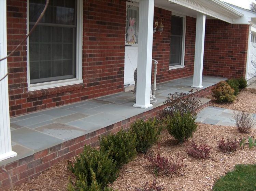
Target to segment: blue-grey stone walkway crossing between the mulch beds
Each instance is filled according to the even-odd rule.
[[[252,115],[256,120],[256,114]],[[236,126],[233,116],[234,110],[208,106],[199,111],[196,122],[212,125]]]

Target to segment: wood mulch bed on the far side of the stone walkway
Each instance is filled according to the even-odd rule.
[[[236,97],[236,100],[230,104],[218,104],[215,102],[212,95],[209,95],[208,98],[212,100],[210,105],[215,107],[256,113],[256,89],[254,88],[246,88],[241,90]]]

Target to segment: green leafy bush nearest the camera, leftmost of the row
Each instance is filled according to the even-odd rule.
[[[118,176],[116,162],[109,153],[98,151],[90,146],[84,147],[83,153],[76,158],[74,165],[69,166],[77,178],[77,185],[90,186],[95,180],[101,188],[113,183]]]

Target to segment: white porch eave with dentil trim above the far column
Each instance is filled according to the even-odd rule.
[[[243,14],[231,6],[219,0],[168,0],[170,2],[191,8],[195,11],[215,17],[217,19],[233,23],[233,20],[240,18]]]

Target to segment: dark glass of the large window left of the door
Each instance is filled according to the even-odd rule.
[[[30,0],[30,29],[44,3],[44,0]],[[29,38],[31,84],[75,78],[75,7],[73,0],[50,0],[47,8],[50,11]]]

